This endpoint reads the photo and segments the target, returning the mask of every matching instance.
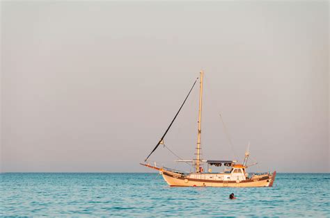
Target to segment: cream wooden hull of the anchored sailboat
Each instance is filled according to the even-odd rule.
[[[276,171],[272,175],[265,174],[258,178],[250,178],[245,181],[212,181],[198,178],[188,178],[171,171],[161,171],[161,174],[170,186],[183,187],[271,187],[274,183]]]

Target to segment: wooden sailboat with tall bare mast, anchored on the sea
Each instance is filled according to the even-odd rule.
[[[171,121],[171,124],[166,129],[164,135],[161,137],[154,149],[148,155],[144,163],[141,165],[155,169],[162,174],[166,183],[170,186],[184,186],[184,187],[272,187],[276,171],[273,173],[252,174],[246,171],[248,169],[247,162],[249,160],[249,150],[245,152],[244,161],[239,164],[237,160],[203,160],[201,158],[201,121],[202,121],[202,97],[203,97],[203,70],[200,72],[200,77],[196,79],[192,85],[187,97],[184,99],[180,109],[176,113],[175,117]],[[164,137],[171,128],[176,117],[178,117],[180,110],[187,101],[191,90],[193,90],[196,82],[200,81],[199,92],[199,107],[198,107],[198,131],[197,131],[197,147],[196,147],[196,159],[194,160],[178,160],[178,162],[190,162],[194,166],[193,172],[184,172],[176,169],[169,169],[167,167],[157,167],[150,165],[148,158],[159,147],[160,144],[164,144]],[[207,165],[206,170],[204,165]],[[222,172],[212,172],[211,166],[221,167],[225,166],[225,170]]]

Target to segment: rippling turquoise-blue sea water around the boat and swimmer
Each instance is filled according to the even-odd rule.
[[[330,217],[330,174],[274,187],[168,187],[158,174],[0,174],[0,215]],[[234,192],[237,199],[230,200]]]

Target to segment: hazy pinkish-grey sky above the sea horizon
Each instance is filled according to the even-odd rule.
[[[329,172],[328,4],[1,1],[2,171],[149,171],[204,69],[205,159]],[[165,139],[184,159],[198,88]]]

